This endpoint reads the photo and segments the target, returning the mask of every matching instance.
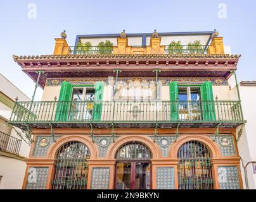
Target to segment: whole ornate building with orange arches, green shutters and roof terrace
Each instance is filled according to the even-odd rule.
[[[216,32],[62,33],[13,56],[44,88],[10,124],[34,134],[23,189],[243,189],[239,55]]]

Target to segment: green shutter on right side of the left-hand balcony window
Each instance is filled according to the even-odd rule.
[[[103,92],[104,92],[104,83],[101,81],[96,82],[94,107],[93,107],[93,121],[101,120]]]

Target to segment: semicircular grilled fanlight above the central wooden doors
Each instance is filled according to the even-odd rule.
[[[150,149],[143,143],[132,141],[122,145],[117,151],[117,160],[150,160]]]

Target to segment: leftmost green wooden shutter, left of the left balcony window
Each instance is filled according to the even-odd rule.
[[[70,108],[70,103],[72,95],[72,85],[67,81],[61,84],[60,96],[56,107],[55,121],[67,121],[68,110]]]

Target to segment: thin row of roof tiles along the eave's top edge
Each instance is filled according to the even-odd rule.
[[[230,55],[230,54],[82,54],[82,55],[42,55],[42,56],[15,56],[13,59],[15,62],[19,60],[31,60],[31,59],[128,59],[128,58],[203,58],[203,59],[238,59],[241,55]]]

